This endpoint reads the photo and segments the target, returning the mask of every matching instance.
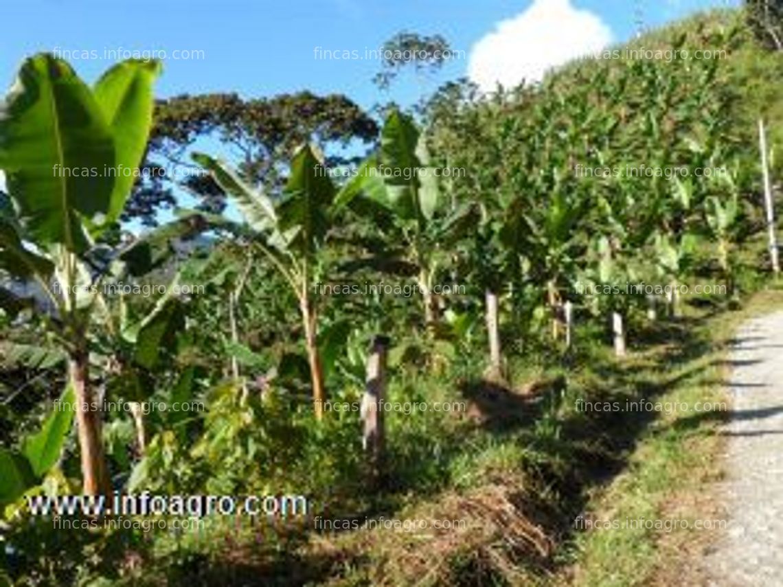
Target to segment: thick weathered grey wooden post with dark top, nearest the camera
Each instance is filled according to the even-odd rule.
[[[386,401],[386,356],[391,340],[376,335],[367,358],[367,379],[362,398],[362,446],[368,458],[373,480],[381,477],[384,459],[384,402]]]

